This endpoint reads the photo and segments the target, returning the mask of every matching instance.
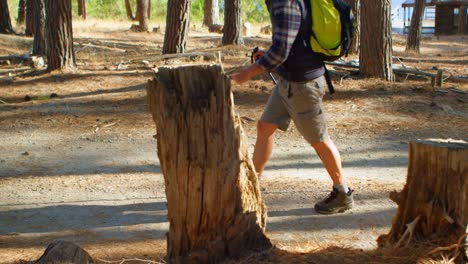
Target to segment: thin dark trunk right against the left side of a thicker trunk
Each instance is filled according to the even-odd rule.
[[[34,43],[33,55],[43,56],[46,54],[45,43],[45,7],[44,0],[34,1]]]

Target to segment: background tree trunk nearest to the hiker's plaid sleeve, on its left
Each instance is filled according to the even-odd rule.
[[[242,44],[241,30],[241,1],[226,0],[224,6],[223,45]]]

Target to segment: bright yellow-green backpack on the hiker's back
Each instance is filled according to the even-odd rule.
[[[344,0],[309,1],[312,50],[320,54],[324,61],[334,61],[348,55],[355,28],[351,6]]]

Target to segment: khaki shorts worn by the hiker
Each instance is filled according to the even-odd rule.
[[[273,88],[260,120],[286,131],[292,119],[310,144],[322,142],[329,138],[322,106],[325,89],[324,76],[306,82],[281,79]]]

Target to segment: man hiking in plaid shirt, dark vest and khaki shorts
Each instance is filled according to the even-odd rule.
[[[272,45],[253,54],[256,62],[231,77],[242,84],[263,72],[280,75],[257,124],[253,162],[258,175],[271,156],[273,135],[285,131],[291,119],[321,158],[333,181],[332,192],[315,204],[322,214],[344,212],[354,206],[353,190],[343,176],[340,153],[328,135],[322,98],[326,90],[321,58],[307,44],[310,38],[309,0],[267,0],[273,28]]]

